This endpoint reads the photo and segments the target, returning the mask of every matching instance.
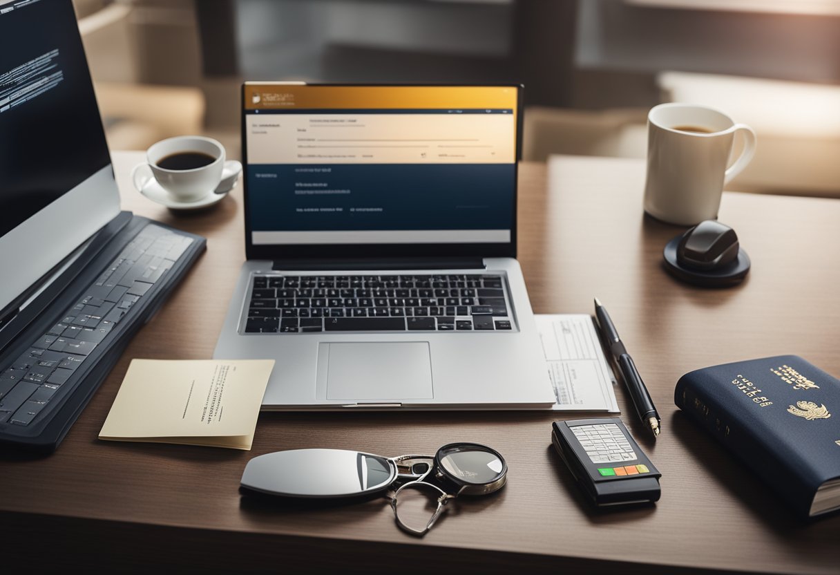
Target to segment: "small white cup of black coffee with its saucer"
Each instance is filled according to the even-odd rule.
[[[206,165],[173,169],[166,165],[182,154],[209,156]],[[184,156],[180,156],[183,158]],[[177,159],[177,158],[176,158]],[[199,162],[200,163],[200,162]],[[134,166],[131,180],[139,192],[143,192],[154,178],[173,200],[181,203],[194,202],[211,193],[223,193],[234,186],[242,164],[239,161],[225,161],[224,146],[213,138],[204,136],[176,136],[160,140],[146,150],[146,161]]]

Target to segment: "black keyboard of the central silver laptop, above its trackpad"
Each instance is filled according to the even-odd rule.
[[[497,274],[253,277],[246,334],[513,329]]]

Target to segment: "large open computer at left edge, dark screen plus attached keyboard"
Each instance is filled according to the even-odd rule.
[[[206,242],[120,211],[71,0],[0,38],[0,450],[52,451]]]

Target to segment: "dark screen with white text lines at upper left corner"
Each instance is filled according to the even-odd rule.
[[[110,159],[70,0],[0,0],[0,46],[3,237]]]

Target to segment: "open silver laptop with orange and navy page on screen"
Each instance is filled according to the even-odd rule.
[[[517,86],[246,82],[245,253],[214,356],[263,409],[546,409],[515,259]]]

